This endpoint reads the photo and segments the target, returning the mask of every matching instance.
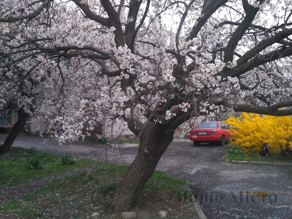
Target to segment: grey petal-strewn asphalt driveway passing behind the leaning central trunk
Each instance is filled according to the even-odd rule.
[[[0,134],[3,143],[5,135]],[[105,150],[99,142],[58,145],[36,136],[20,135],[15,146],[57,154],[72,154],[120,164],[131,164],[137,147]],[[184,178],[208,219],[292,219],[291,166],[230,164],[219,161],[228,147],[202,145],[191,141],[172,142],[157,166],[168,175]],[[183,200],[182,191],[182,200]],[[211,201],[212,200],[212,201]]]

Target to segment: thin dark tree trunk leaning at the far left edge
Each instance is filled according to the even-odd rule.
[[[0,154],[6,154],[9,152],[15,138],[19,135],[19,133],[23,130],[26,120],[29,118],[29,114],[26,113],[23,109],[18,110],[18,119],[14,124],[11,132],[8,134],[5,142],[0,147]]]

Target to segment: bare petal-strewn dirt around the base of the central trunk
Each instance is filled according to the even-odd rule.
[[[121,219],[121,212],[108,213],[107,202],[112,197],[113,192],[100,188],[100,190],[92,190],[87,194],[79,192],[79,186],[71,187],[66,192],[59,193],[56,191],[52,194],[45,195],[43,198],[36,198],[30,201],[21,199],[18,204],[23,206],[36,206],[35,209],[46,209],[53,212],[39,213],[10,213],[3,212],[1,218],[12,219],[74,219],[74,218],[91,218],[94,212],[100,213],[100,219]],[[20,209],[34,209],[32,207],[21,207]],[[192,203],[183,199],[178,201],[178,196],[169,192],[144,190],[137,201],[135,208],[131,209],[136,213],[136,219],[157,219],[158,211],[167,211],[168,219],[195,219],[194,207]],[[8,210],[9,211],[9,210]],[[14,211],[14,209],[13,209]],[[33,211],[33,210],[31,210]]]

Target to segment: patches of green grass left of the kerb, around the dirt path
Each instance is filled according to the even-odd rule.
[[[27,171],[23,167],[27,157],[34,156],[40,163],[44,166],[41,170],[30,170]],[[33,149],[23,149],[18,147],[11,148],[11,153],[9,156],[0,157],[0,174],[1,181],[0,185],[19,185],[20,183],[27,182],[30,179],[38,178],[43,175],[50,175],[54,173],[66,172],[73,167],[86,167],[93,164],[93,161],[87,159],[79,159],[73,165],[62,165],[61,156],[39,152]],[[119,180],[126,173],[129,166],[118,165],[112,163],[103,163],[101,161],[97,162],[98,167],[91,172],[87,179],[82,182],[82,184],[87,184],[92,181],[95,183],[99,182],[105,184],[106,187],[103,190],[113,191],[117,188]],[[66,177],[65,181],[55,181],[35,193],[35,195],[25,195],[25,199],[34,199],[38,197],[38,194],[49,194],[53,191],[67,190],[71,184],[76,184],[81,182],[86,176],[87,172]],[[19,177],[21,175],[21,177]],[[95,177],[93,177],[93,175]],[[154,171],[152,177],[145,185],[145,189],[149,190],[167,190],[172,194],[178,194],[178,191],[185,191],[187,188],[187,182],[182,179],[175,179],[165,175],[161,171]]]

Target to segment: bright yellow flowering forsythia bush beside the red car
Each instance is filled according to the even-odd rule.
[[[275,117],[255,113],[242,113],[239,118],[229,117],[233,136],[230,143],[238,145],[244,152],[259,153],[265,142],[271,153],[286,153],[292,150],[292,117]]]

